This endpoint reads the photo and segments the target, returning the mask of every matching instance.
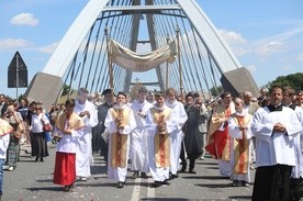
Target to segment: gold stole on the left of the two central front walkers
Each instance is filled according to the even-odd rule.
[[[119,127],[125,126],[128,123],[130,109],[110,109],[110,112],[115,120],[117,116],[122,118]],[[127,137],[128,135],[120,134],[119,132],[111,134],[111,166],[125,168],[127,165]]]

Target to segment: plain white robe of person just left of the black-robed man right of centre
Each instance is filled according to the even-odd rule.
[[[183,139],[182,127],[188,120],[188,114],[184,105],[175,100],[170,102],[166,100],[166,105],[172,110],[171,123],[175,124],[175,130],[169,134],[170,137],[170,172],[177,175],[179,168],[179,158]]]

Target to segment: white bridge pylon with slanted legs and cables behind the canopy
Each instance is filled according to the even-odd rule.
[[[257,94],[258,88],[249,71],[243,68],[200,5],[194,0],[176,0],[173,2],[171,3],[168,0],[167,2],[146,0],[145,4],[142,4],[141,0],[130,0],[125,4],[119,4],[121,2],[112,0],[88,1],[61,38],[42,72],[37,72],[33,78],[24,96],[31,100],[43,100],[46,107],[50,107],[60,94],[63,85],[75,87],[77,78],[80,81],[75,88],[80,86],[99,91],[109,88],[109,72],[105,69],[109,64],[106,63],[108,58],[104,48],[106,45],[105,43],[103,44],[105,38],[104,29],[102,30],[102,27],[110,27],[110,37],[121,42],[134,52],[136,52],[137,45],[142,41],[149,43],[150,49],[155,51],[166,44],[168,37],[172,40],[173,32],[180,29],[181,37],[184,40],[180,44],[180,52],[183,57],[180,59],[181,64],[179,65],[183,70],[183,88],[186,91],[190,91],[191,88],[193,90],[205,90],[205,88],[213,86],[209,82],[214,83],[215,79],[217,79],[214,77],[220,75],[222,76],[221,82],[226,90],[234,93],[250,90]],[[145,27],[148,36],[139,35],[143,21],[146,22]],[[100,22],[100,25],[97,22]],[[184,25],[184,23],[187,24]],[[99,26],[99,31],[92,32],[92,30],[98,30],[97,26]],[[102,32],[103,36],[83,45],[94,37],[94,34],[100,32]],[[145,38],[143,40],[143,37]],[[90,53],[90,55],[93,55],[91,58],[93,58],[88,62],[89,56],[86,54],[92,49],[92,47],[89,48],[88,46],[93,43],[93,51],[101,49],[99,54],[102,55],[101,52],[103,49],[104,56],[99,56],[98,58],[96,56],[98,55],[97,52],[96,54],[93,52]],[[102,45],[100,45],[101,43]],[[190,46],[195,47],[189,48],[186,43],[191,43]],[[202,47],[200,49],[199,44],[203,44],[203,49]],[[83,46],[86,46],[85,51]],[[82,53],[79,54],[81,51]],[[193,53],[192,51],[195,52]],[[81,55],[86,56],[83,56],[82,60],[77,60]],[[195,58],[193,55],[195,55]],[[202,56],[209,56],[210,60],[204,62]],[[206,65],[210,66],[209,69],[204,69]],[[173,66],[176,66],[176,69]],[[167,78],[165,76],[166,65],[156,68],[158,79],[156,81],[158,81],[161,90],[165,89],[165,82],[169,83],[170,87],[178,88],[177,66],[178,64],[176,63],[170,67],[170,75]],[[123,70],[115,66],[114,75],[115,90],[128,92],[132,82],[132,71]],[[71,78],[69,78],[70,76]],[[81,79],[81,76],[86,77],[87,80]],[[233,80],[238,76],[242,79]],[[250,80],[250,85],[242,82],[247,80]]]

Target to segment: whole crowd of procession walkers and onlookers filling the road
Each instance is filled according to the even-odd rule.
[[[19,105],[0,94],[0,194],[3,170],[13,171],[20,142],[31,144],[35,161],[48,156],[47,142],[56,144],[54,183],[70,191],[87,181],[93,156],[101,155],[109,179],[123,188],[128,168],[132,179],[154,179],[153,188],[188,171],[198,174],[195,160],[207,153],[220,174],[235,187],[252,183],[252,200],[299,200],[303,197],[303,91],[290,87],[245,91],[233,98],[222,92],[207,99],[198,92],[147,91],[137,98],[111,89],[46,110],[42,101],[22,99]],[[46,129],[52,125],[52,131]],[[189,164],[189,166],[188,166]]]

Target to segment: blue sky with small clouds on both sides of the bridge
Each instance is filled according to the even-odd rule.
[[[0,1],[0,93],[15,98],[15,89],[7,88],[8,66],[14,53],[19,51],[24,59],[30,83],[87,2]],[[303,71],[302,0],[198,2],[259,87],[278,76]]]

